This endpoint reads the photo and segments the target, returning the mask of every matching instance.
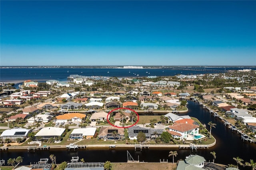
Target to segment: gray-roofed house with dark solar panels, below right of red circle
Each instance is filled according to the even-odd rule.
[[[137,140],[137,136],[139,132],[143,132],[146,135],[147,140],[152,140],[153,138],[157,138],[163,132],[163,129],[152,129],[152,128],[143,128],[138,126],[133,126],[128,128],[128,137],[133,140]]]

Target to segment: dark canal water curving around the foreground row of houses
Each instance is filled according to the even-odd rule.
[[[56,162],[61,163],[63,161],[70,162],[72,156],[79,156],[79,158],[84,158],[86,162],[127,162],[127,150],[134,158],[134,160],[144,161],[144,162],[160,162],[160,159],[166,161],[168,159],[168,154],[170,150],[176,150],[178,155],[174,158],[175,161],[184,159],[190,154],[198,154],[204,156],[206,161],[211,161],[213,159],[210,152],[216,152],[215,162],[219,164],[236,164],[233,157],[239,156],[244,160],[244,162],[250,162],[250,159],[256,161],[256,144],[250,142],[244,142],[241,140],[240,134],[232,132],[230,128],[225,127],[223,122],[218,118],[214,118],[206,109],[203,109],[198,103],[188,101],[188,112],[184,115],[189,115],[191,117],[196,117],[200,120],[202,124],[206,124],[206,128],[210,130],[207,125],[208,122],[212,121],[216,123],[216,128],[212,128],[212,134],[216,138],[216,145],[208,149],[178,149],[178,148],[149,148],[142,149],[142,151],[135,151],[134,148],[86,148],[79,150],[67,149],[52,149],[50,150],[36,150],[35,152],[28,152],[27,150],[8,150],[0,152],[0,160],[7,160],[9,158],[16,158],[17,156],[23,157],[22,164],[34,164],[38,162],[40,158],[49,158],[50,154],[56,156]],[[172,158],[168,159],[172,162]],[[50,162],[50,159],[49,159]],[[243,169],[242,167],[240,169]],[[246,168],[247,169],[247,168]]]

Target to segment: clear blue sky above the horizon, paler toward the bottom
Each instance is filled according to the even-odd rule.
[[[0,1],[0,65],[256,65],[256,1]]]

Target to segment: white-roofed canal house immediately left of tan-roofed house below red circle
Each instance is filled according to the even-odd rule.
[[[69,139],[90,139],[93,138],[96,127],[88,127],[88,128],[75,128],[70,136]]]

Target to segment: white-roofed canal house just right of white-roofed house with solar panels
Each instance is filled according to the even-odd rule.
[[[35,134],[35,137],[41,137],[42,140],[48,140],[49,138],[58,138],[59,136],[62,136],[65,130],[65,128],[59,127],[45,127],[39,130],[39,132]]]

